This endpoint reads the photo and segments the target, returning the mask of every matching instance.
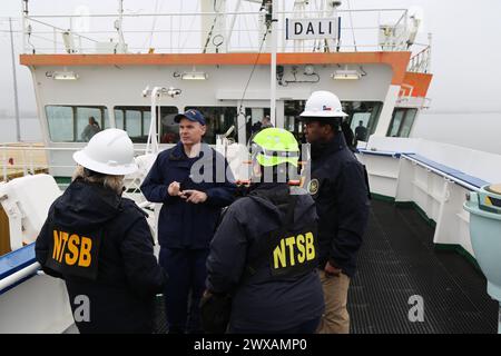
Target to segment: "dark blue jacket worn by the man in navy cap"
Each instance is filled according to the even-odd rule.
[[[188,158],[181,142],[160,152],[141,185],[141,191],[149,201],[164,204],[158,220],[158,240],[164,248],[208,248],[220,208],[234,200],[236,186],[233,176],[228,179],[224,174],[228,162],[208,145],[203,146],[197,158]],[[204,155],[204,151],[210,154]],[[197,177],[191,175],[195,164],[197,172],[205,175],[202,182],[196,182]],[[203,204],[191,204],[171,197],[167,189],[173,181],[178,181],[181,190],[204,191],[208,199]]]

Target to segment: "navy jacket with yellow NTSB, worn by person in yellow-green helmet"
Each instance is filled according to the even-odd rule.
[[[324,299],[311,245],[313,199],[297,196],[287,233],[275,241],[271,236],[285,222],[288,190],[285,184],[256,186],[227,209],[210,244],[207,289],[233,295],[230,333],[312,333],[318,324]]]

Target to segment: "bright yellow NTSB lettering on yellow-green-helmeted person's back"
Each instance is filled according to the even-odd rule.
[[[273,268],[292,267],[315,259],[313,233],[282,238],[273,250]]]

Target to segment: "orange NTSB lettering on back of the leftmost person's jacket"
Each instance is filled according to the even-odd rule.
[[[68,266],[89,267],[92,257],[92,240],[77,234],[53,230],[52,258]]]

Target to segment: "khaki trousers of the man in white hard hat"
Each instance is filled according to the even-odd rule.
[[[324,289],[325,313],[318,325],[317,334],[350,334],[350,315],[346,309],[350,277],[326,276],[320,270],[318,276]]]

